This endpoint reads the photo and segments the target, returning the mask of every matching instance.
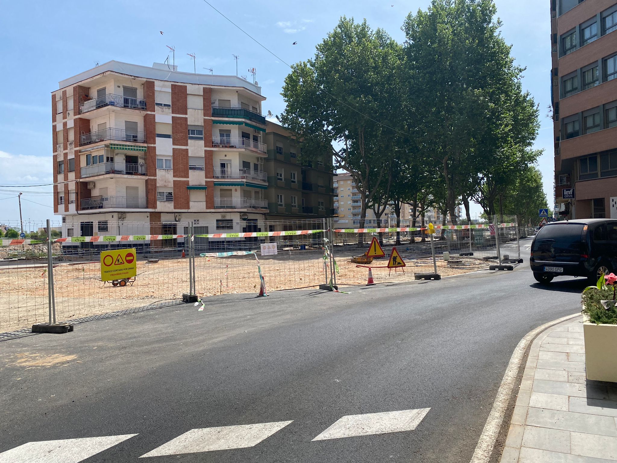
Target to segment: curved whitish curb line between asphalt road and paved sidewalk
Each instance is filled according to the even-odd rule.
[[[486,419],[484,429],[482,429],[482,434],[480,435],[478,445],[476,445],[476,449],[471,457],[470,463],[488,463],[491,459],[493,449],[495,448],[495,442],[497,441],[497,436],[499,436],[499,431],[502,427],[503,415],[508,408],[510,396],[512,395],[512,389],[514,387],[514,383],[516,382],[516,376],[518,375],[518,370],[521,367],[521,362],[523,362],[523,354],[527,350],[529,343],[531,343],[537,335],[547,328],[580,316],[580,313],[572,314],[553,320],[549,323],[544,323],[544,325],[541,325],[527,333],[516,345],[516,348],[510,357],[510,363],[508,363],[508,367],[505,370],[505,373],[503,373],[502,383],[499,386],[499,390],[497,390],[497,396],[495,397],[489,417]],[[503,424],[506,426],[510,425],[510,423]]]

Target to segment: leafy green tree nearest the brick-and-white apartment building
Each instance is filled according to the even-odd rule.
[[[402,59],[402,47],[385,31],[342,17],[313,59],[292,66],[281,93],[286,109],[279,120],[300,140],[300,156],[331,152],[335,167],[354,179],[361,228],[388,181]]]

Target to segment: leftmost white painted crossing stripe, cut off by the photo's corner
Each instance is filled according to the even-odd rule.
[[[0,463],[78,463],[136,434],[28,442],[0,453]]]

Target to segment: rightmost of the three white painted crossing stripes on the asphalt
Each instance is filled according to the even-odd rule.
[[[346,415],[334,422],[313,441],[413,431],[429,410],[429,408],[420,408],[397,412]]]

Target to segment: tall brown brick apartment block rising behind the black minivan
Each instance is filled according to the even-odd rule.
[[[550,6],[555,209],[617,218],[617,1]]]

